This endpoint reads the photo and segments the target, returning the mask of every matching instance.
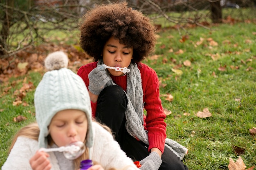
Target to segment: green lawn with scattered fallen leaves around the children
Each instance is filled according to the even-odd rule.
[[[249,129],[256,127],[256,26],[220,24],[211,30],[197,27],[188,31],[184,42],[179,41],[176,30],[159,32],[157,59],[143,61],[157,72],[163,107],[172,111],[166,118],[167,137],[189,149],[184,157],[189,170],[227,170],[229,158],[238,159],[232,146],[245,149],[241,157],[247,168],[255,166],[256,137]],[[218,45],[210,46],[209,38]],[[179,50],[183,53],[177,53]],[[183,65],[185,60],[191,61],[190,67]],[[225,71],[220,71],[220,66],[226,66]],[[176,74],[172,68],[183,74]],[[22,87],[25,77],[36,87],[42,74],[29,72],[0,86],[0,167],[7,158],[11,137],[35,120],[34,89],[23,99],[29,106],[13,106],[13,93]],[[164,94],[171,94],[173,101],[165,100]],[[196,116],[204,108],[209,109],[211,117]],[[13,122],[18,115],[27,120]]]

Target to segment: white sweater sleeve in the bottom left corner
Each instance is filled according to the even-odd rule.
[[[29,159],[38,150],[38,142],[27,137],[18,137],[2,170],[32,170]]]

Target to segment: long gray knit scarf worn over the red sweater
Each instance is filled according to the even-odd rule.
[[[102,65],[103,60],[99,60],[97,67]],[[126,109],[126,130],[130,135],[133,137],[137,137],[139,140],[144,142],[145,144],[148,143],[148,134],[147,131],[144,129],[144,119],[143,119],[143,90],[141,84],[141,74],[139,72],[139,68],[137,64],[131,63],[128,67],[130,72],[127,74],[127,109]],[[111,79],[112,80],[112,79]],[[109,81],[106,86],[109,85],[116,85],[113,81]],[[187,148],[180,145],[179,143],[166,138],[165,139],[165,146],[177,155],[177,157],[183,159],[184,155],[187,153]]]

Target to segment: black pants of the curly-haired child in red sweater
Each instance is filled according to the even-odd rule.
[[[125,111],[127,97],[120,86],[108,86],[101,91],[97,101],[96,119],[109,126],[115,139],[128,157],[141,161],[147,157],[148,145],[132,137],[126,130]],[[187,170],[182,161],[168,148],[164,148],[162,164],[159,170]]]

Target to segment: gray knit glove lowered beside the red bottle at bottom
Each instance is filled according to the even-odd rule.
[[[147,157],[140,161],[141,170],[158,170],[162,164],[162,159],[159,157],[157,152],[150,153]]]

